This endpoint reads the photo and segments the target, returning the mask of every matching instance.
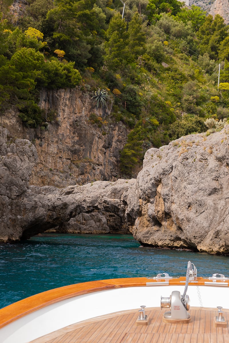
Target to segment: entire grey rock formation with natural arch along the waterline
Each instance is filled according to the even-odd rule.
[[[148,150],[137,179],[58,189],[28,185],[36,150],[0,128],[0,239],[129,230],[143,245],[229,254],[228,132]]]

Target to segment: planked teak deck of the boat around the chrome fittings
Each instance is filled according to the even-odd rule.
[[[167,309],[168,310],[168,309]],[[166,310],[146,308],[148,326],[137,326],[138,309],[117,312],[52,332],[31,343],[228,343],[229,330],[214,325],[217,309],[191,307],[186,324],[163,323]],[[224,310],[229,322],[229,310]]]

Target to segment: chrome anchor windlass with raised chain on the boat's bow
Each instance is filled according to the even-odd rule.
[[[181,296],[179,291],[173,291],[170,297],[161,297],[161,308],[169,308],[170,311],[164,313],[164,319],[167,321],[181,320],[189,321],[191,320],[188,310],[190,309],[190,299],[186,295],[188,282],[191,280],[196,280],[197,270],[193,263],[188,261],[187,272],[186,272],[186,281],[184,293]]]

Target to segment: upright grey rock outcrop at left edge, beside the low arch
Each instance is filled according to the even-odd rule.
[[[37,153],[28,140],[8,140],[7,129],[0,127],[0,237],[14,241],[22,236],[23,215],[18,199],[26,194],[29,176]]]

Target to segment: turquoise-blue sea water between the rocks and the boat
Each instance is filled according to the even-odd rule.
[[[0,308],[51,288],[116,277],[229,275],[229,257],[141,247],[131,235],[42,234],[0,244]]]

